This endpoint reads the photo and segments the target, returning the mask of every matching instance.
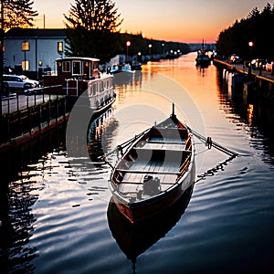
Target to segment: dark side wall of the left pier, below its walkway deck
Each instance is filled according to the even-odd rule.
[[[68,121],[76,98],[63,96],[0,117],[0,153],[36,139]]]

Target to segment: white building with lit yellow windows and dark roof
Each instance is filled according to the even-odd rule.
[[[55,70],[55,60],[65,57],[66,29],[12,28],[4,37],[4,67]]]

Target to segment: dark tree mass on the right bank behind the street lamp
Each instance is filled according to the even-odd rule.
[[[220,57],[237,54],[240,58],[274,58],[274,5],[269,3],[260,11],[253,8],[246,18],[236,20],[220,32],[216,51]],[[253,42],[250,44],[249,42]],[[251,46],[252,45],[252,46]]]

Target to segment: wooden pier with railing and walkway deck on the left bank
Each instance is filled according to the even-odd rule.
[[[25,98],[25,100],[24,100]],[[42,94],[2,100],[0,152],[37,138],[68,121],[76,98]]]

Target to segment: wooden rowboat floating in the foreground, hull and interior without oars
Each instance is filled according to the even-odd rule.
[[[172,115],[129,146],[111,173],[113,200],[132,223],[174,204],[195,181],[189,129]]]

